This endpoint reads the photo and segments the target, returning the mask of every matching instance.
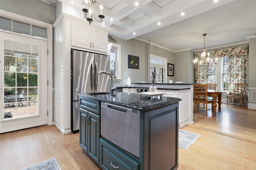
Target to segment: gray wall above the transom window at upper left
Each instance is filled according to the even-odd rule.
[[[0,0],[0,9],[53,24],[56,7],[40,0]]]

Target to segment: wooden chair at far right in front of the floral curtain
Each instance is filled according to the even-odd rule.
[[[234,88],[234,95],[227,95],[227,106],[228,106],[228,98],[233,98],[234,99],[234,104],[235,104],[235,99],[239,99],[239,106],[241,107],[241,100],[244,103],[245,106],[245,99],[246,99],[246,90],[247,90],[247,85],[246,83],[236,83],[235,88]]]

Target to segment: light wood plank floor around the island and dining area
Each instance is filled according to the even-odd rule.
[[[188,150],[179,148],[179,170],[256,169],[256,111],[222,108],[207,116],[200,109],[195,123],[182,128],[201,136]],[[0,134],[0,170],[19,170],[51,157],[62,170],[98,170],[78,142],[78,133],[62,135],[54,125]]]

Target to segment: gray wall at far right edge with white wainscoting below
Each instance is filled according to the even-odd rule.
[[[256,38],[249,39],[249,56],[248,56],[248,87],[256,88]],[[253,91],[253,92],[252,92]],[[249,90],[249,103],[256,104],[256,90]],[[252,96],[253,94],[253,96]]]

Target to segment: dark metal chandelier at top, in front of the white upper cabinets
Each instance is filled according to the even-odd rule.
[[[104,15],[102,15],[102,9],[103,9],[103,6],[100,5],[100,15],[97,17],[96,16],[96,13],[95,13],[95,2],[96,0],[89,0],[89,2],[91,3],[91,10],[88,10],[87,9],[87,3],[88,3],[88,0],[84,0],[84,3],[85,3],[85,8],[82,9],[82,11],[84,12],[84,18],[87,19],[87,21],[89,21],[89,25],[91,25],[93,19],[92,17],[98,21],[98,22],[102,22],[103,21],[103,18],[105,18]]]

